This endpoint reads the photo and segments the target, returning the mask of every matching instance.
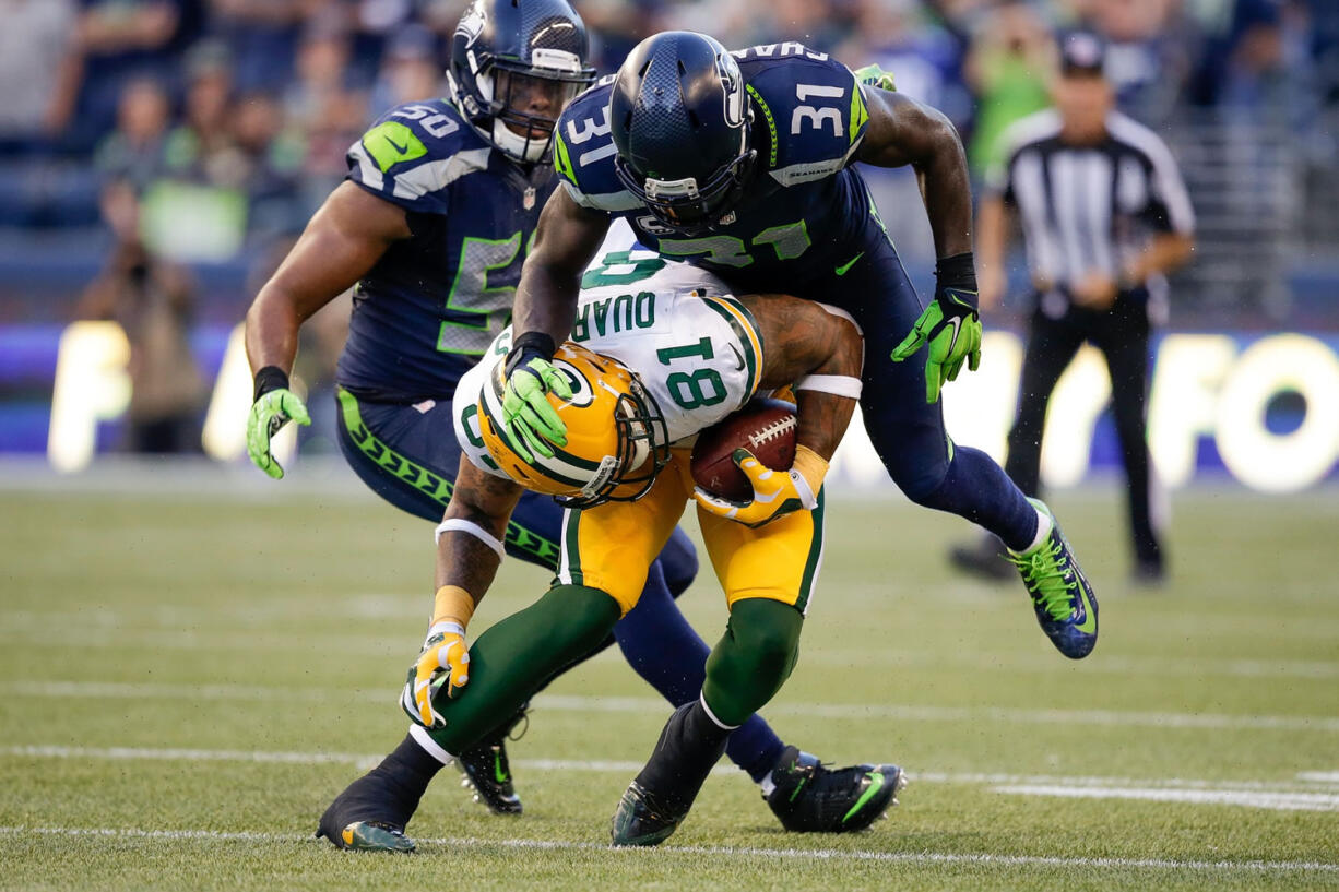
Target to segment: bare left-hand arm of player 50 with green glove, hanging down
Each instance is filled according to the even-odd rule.
[[[351,182],[341,183],[256,295],[246,312],[246,358],[256,376],[246,453],[270,477],[284,475],[270,455],[270,438],[289,421],[311,423],[303,400],[288,388],[297,329],[367,275],[392,242],[408,237],[400,208]]]

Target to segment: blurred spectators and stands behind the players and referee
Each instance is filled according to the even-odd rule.
[[[465,5],[0,0],[0,324],[119,321],[154,358],[131,368],[131,417],[185,422],[206,387],[182,371],[193,327],[241,319],[370,121],[441,95]],[[1335,0],[574,5],[601,74],[667,28],[877,62],[959,126],[977,177],[1002,130],[1047,104],[1055,35],[1095,29],[1121,106],[1172,145],[1200,214],[1176,323],[1339,327]],[[913,179],[876,171],[872,185],[908,267],[927,271]],[[336,323],[312,360],[328,366],[340,336]],[[170,450],[167,431],[189,427],[142,431],[143,447]]]

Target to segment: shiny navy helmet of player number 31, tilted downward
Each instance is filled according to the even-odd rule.
[[[739,201],[755,151],[735,58],[712,38],[667,31],[639,43],[609,94],[623,188],[687,233],[716,225]]]

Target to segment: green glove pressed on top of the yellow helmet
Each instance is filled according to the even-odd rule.
[[[549,443],[568,445],[568,427],[558,418],[548,394],[572,399],[572,387],[553,363],[553,340],[526,332],[511,344],[506,359],[506,387],[502,391],[502,423],[511,447],[524,461],[533,462],[532,450],[553,458]]]

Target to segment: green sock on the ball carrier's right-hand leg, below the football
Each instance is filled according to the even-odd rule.
[[[743,725],[781,690],[799,656],[805,617],[766,597],[738,601],[726,635],[707,658],[703,698],[726,725]]]

